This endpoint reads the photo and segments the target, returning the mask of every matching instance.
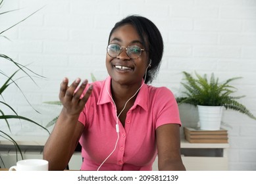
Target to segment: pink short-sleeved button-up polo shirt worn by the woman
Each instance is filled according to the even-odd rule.
[[[81,170],[97,170],[115,148],[116,108],[111,94],[111,78],[93,83],[93,92],[81,112],[79,122],[85,128]],[[107,87],[107,89],[106,89]],[[123,127],[118,120],[119,139],[115,151],[99,170],[152,170],[157,155],[155,130],[163,124],[179,124],[178,105],[166,87],[144,84]]]

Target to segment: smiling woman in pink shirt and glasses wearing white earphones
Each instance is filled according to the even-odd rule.
[[[109,77],[88,86],[61,83],[63,110],[45,144],[49,170],[64,170],[78,141],[81,170],[185,170],[180,157],[180,118],[166,87],[150,83],[159,70],[163,39],[141,16],[117,22],[109,35]],[[54,149],[53,149],[54,148]]]

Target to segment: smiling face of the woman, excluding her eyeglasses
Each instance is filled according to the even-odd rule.
[[[146,49],[141,44],[136,28],[131,24],[125,24],[116,28],[110,37],[109,44],[111,43],[118,44],[121,47],[138,45],[141,49]],[[132,59],[126,54],[125,48],[122,48],[122,52],[116,58],[112,58],[107,54],[107,71],[114,83],[116,82],[120,85],[140,85],[149,64],[148,60],[146,51],[141,51],[140,57]]]

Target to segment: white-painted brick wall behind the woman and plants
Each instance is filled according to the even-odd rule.
[[[103,80],[107,76],[105,47],[109,32],[128,14],[147,16],[163,34],[165,54],[153,85],[165,85],[178,95],[182,71],[215,72],[220,80],[242,76],[234,83],[237,94],[246,95],[241,102],[256,114],[255,0],[5,0],[2,11],[22,9],[0,16],[0,31],[43,6],[5,34],[12,41],[0,38],[1,53],[22,64],[31,63],[32,70],[47,78],[37,79],[38,86],[28,79],[19,82],[30,103],[43,112],[41,115],[17,90],[11,88],[5,94],[5,100],[21,114],[46,124],[59,110],[49,113],[45,110],[49,107],[42,103],[57,100],[64,76],[90,79],[93,72]],[[3,70],[13,72],[9,65]],[[196,113],[193,107],[180,106],[185,126],[196,124]],[[230,170],[256,170],[256,121],[230,110],[224,112],[223,121],[228,124]],[[14,133],[20,133],[21,126],[17,125]],[[45,135],[38,129],[36,134]]]

